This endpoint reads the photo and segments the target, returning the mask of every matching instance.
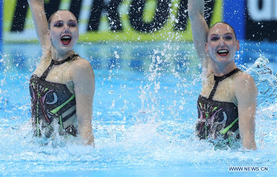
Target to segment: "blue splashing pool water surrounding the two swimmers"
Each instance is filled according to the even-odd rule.
[[[28,81],[37,44],[7,44],[0,58],[1,176],[276,176],[276,43],[241,43],[236,63],[259,89],[257,151],[197,140],[199,61],[192,44],[79,42],[94,70],[95,148],[33,139]],[[229,171],[232,166],[268,171]]]

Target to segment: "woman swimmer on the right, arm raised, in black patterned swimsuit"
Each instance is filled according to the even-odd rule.
[[[189,0],[193,43],[202,64],[202,92],[198,97],[199,139],[240,139],[242,147],[256,149],[257,89],[253,78],[235,65],[239,41],[234,29],[218,22],[210,29],[204,18],[204,0]]]

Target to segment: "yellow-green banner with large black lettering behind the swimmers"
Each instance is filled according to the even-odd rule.
[[[78,19],[79,40],[157,41],[192,40],[187,0],[45,0],[47,18],[58,9]],[[205,4],[206,21],[222,21],[222,1]],[[36,41],[27,0],[4,0],[3,41]],[[211,13],[212,12],[212,13]]]

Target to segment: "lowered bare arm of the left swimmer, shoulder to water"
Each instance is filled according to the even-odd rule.
[[[77,60],[72,63],[72,66],[79,136],[85,145],[94,145],[92,130],[92,102],[95,91],[94,72],[87,60]]]

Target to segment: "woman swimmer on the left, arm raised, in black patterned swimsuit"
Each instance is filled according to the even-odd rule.
[[[94,145],[94,72],[73,49],[79,39],[77,19],[68,10],[58,10],[47,22],[43,0],[28,3],[42,48],[30,79],[34,136],[54,136],[58,127],[60,135],[80,136],[83,144]]]

